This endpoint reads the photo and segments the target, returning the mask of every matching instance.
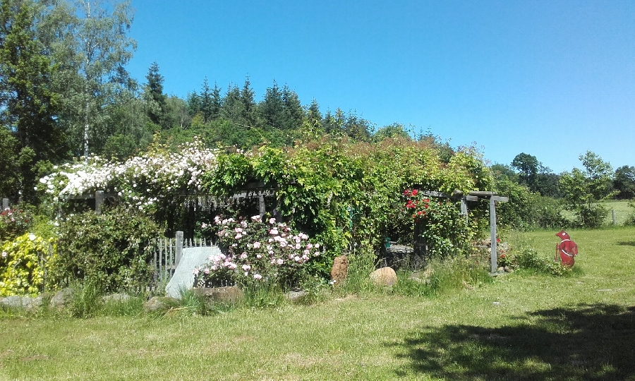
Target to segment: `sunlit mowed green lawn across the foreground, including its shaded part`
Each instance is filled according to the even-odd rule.
[[[635,228],[576,272],[207,317],[0,320],[0,380],[635,380]],[[512,234],[552,255],[555,231]]]

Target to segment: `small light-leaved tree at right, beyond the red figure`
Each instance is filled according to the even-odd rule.
[[[613,193],[611,164],[591,151],[580,155],[583,171],[577,168],[560,176],[560,190],[565,207],[578,216],[581,226],[598,227],[603,224],[607,209],[603,202]]]

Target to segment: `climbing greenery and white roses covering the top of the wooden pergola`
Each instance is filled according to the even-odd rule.
[[[40,183],[40,189],[56,203],[97,190],[116,193],[131,212],[153,216],[164,227],[167,216],[162,211],[187,198],[210,195],[225,200],[246,193],[250,184],[258,184],[259,188],[247,192],[269,192],[277,216],[315,236],[325,245],[325,257],[332,258],[346,252],[351,243],[379,250],[389,231],[411,225],[413,217],[404,210],[403,193],[414,185],[440,193],[467,194],[489,191],[492,179],[476,150],[461,149],[447,157],[440,155],[434,144],[394,138],[373,144],[323,140],[247,152],[212,150],[199,141],[179,152],[157,145],[142,157],[123,163],[92,158],[69,164]],[[258,207],[260,211],[260,202]],[[435,234],[442,241],[456,234],[458,225],[452,222],[454,217],[443,217],[450,208],[436,208]],[[461,234],[469,238],[483,228],[486,212],[483,207],[471,210]],[[195,223],[211,221],[199,219]],[[435,250],[437,255],[447,256],[464,247],[441,245]]]

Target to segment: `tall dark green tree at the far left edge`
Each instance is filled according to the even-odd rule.
[[[68,155],[66,135],[56,121],[59,95],[52,85],[53,63],[37,37],[43,17],[43,9],[33,1],[0,3],[0,128],[6,146],[0,141],[11,158],[1,173],[13,178],[3,179],[11,196],[28,201],[35,198],[38,168]]]

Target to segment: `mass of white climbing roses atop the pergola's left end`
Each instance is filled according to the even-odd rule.
[[[150,152],[123,163],[91,157],[54,167],[56,171],[40,179],[38,188],[56,202],[98,190],[116,192],[128,206],[143,210],[171,193],[200,190],[201,176],[216,168],[217,156],[217,150],[195,140],[182,145],[178,153]]]

